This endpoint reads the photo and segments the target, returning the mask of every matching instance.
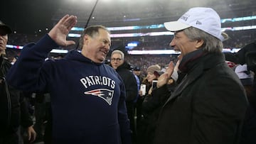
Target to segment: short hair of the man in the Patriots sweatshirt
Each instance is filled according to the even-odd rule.
[[[85,35],[89,35],[90,37],[95,38],[95,36],[99,35],[100,29],[103,29],[103,30],[107,31],[107,33],[110,33],[110,31],[107,30],[107,28],[105,26],[89,26],[89,27],[85,28],[85,30],[82,32],[82,35],[80,36],[80,39],[79,39],[78,48],[80,50],[82,50],[82,46],[84,45],[83,38],[85,37]]]

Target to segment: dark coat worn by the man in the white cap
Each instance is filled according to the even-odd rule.
[[[161,109],[156,144],[239,142],[245,90],[223,54],[200,53],[196,50],[181,60],[179,70],[187,74]]]

